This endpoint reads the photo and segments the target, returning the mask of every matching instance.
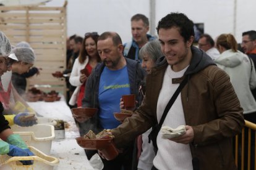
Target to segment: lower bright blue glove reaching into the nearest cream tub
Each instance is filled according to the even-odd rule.
[[[19,147],[9,144],[9,153],[7,153],[7,155],[9,155],[9,156],[33,156],[34,154],[32,152],[30,152],[30,150],[28,148],[23,150],[22,148],[19,148]],[[20,162],[25,165],[33,164],[32,160],[20,161]]]

